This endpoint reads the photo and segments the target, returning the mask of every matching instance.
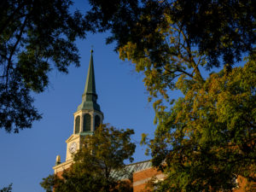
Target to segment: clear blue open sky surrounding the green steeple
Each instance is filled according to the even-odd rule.
[[[143,75],[136,73],[130,62],[119,60],[114,45],[105,44],[106,37],[106,34],[88,35],[78,41],[81,67],[70,67],[67,75],[55,70],[50,73],[49,88],[35,95],[35,106],[44,114],[32,129],[19,134],[0,130],[0,189],[13,183],[14,192],[44,191],[39,183],[53,173],[56,155],[65,160],[65,141],[73,133],[73,113],[82,99],[91,45],[104,123],[134,129],[133,139],[137,142],[143,132],[153,135],[154,110],[147,101]],[[144,155],[144,148],[137,145],[135,162],[150,158]]]

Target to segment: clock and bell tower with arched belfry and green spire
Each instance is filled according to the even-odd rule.
[[[97,101],[95,73],[93,66],[93,50],[90,50],[90,62],[87,78],[82,95],[82,102],[73,113],[73,134],[67,139],[66,161],[61,163],[60,157],[57,158],[53,167],[55,172],[61,172],[71,166],[73,154],[82,146],[83,138],[92,135],[96,128],[102,124],[103,113]]]

